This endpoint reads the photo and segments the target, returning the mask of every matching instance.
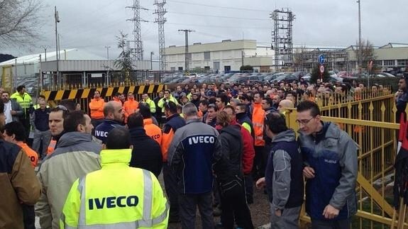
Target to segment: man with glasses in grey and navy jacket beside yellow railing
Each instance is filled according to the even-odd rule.
[[[358,145],[335,123],[321,121],[319,106],[312,101],[297,106],[296,121],[311,227],[350,228],[357,211]]]

